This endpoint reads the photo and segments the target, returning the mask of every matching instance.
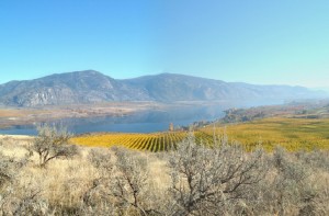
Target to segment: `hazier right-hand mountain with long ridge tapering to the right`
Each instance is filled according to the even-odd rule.
[[[208,101],[248,99],[304,99],[324,94],[303,87],[256,86],[241,82],[161,73],[124,80],[127,86],[143,88],[156,101]]]

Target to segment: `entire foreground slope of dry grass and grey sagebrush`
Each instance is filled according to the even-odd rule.
[[[2,138],[0,215],[329,215],[328,151],[247,152],[226,136],[208,148],[190,134],[168,152],[72,155],[58,138]],[[60,157],[42,164],[39,149]]]

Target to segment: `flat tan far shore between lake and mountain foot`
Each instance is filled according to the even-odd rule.
[[[35,125],[65,118],[88,118],[102,116],[126,116],[150,110],[170,110],[177,106],[204,105],[214,102],[181,101],[177,103],[159,102],[106,102],[97,104],[70,104],[43,107],[1,107],[0,129],[16,125]],[[218,102],[215,102],[218,103]]]

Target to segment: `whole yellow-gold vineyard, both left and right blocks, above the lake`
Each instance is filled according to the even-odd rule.
[[[329,120],[305,118],[264,118],[236,125],[213,125],[194,132],[197,144],[212,145],[214,137],[227,135],[229,141],[236,141],[252,150],[262,146],[271,151],[280,145],[290,151],[329,149]],[[175,148],[188,136],[188,132],[163,132],[152,134],[107,133],[81,135],[72,143],[86,146],[125,146],[131,149],[166,151]]]

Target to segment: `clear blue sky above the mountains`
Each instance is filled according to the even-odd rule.
[[[0,83],[84,69],[329,87],[329,1],[0,1]]]

